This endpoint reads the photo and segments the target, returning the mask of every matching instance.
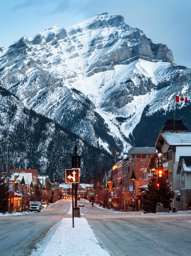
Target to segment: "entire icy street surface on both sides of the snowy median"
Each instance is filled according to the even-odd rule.
[[[85,207],[80,209],[83,214],[81,217],[88,220],[101,247],[110,255],[190,255],[190,211],[160,215],[115,212],[99,206],[92,208],[87,200],[82,201]],[[62,218],[71,218],[71,215],[66,214],[70,205],[71,200],[62,200],[41,213],[1,217],[1,255],[29,255],[38,242],[40,246],[43,244],[42,239],[51,226]],[[46,240],[51,238],[54,230],[51,230]],[[83,243],[83,237],[81,239]]]

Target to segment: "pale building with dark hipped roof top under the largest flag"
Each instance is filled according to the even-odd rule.
[[[156,149],[161,148],[163,159],[166,163],[163,164],[165,175],[171,183],[172,190],[175,192],[175,197],[172,202],[172,207],[180,209],[180,176],[177,175],[177,167],[180,156],[191,155],[191,133],[187,132],[187,128],[183,125],[182,120],[166,120],[162,129],[159,132]]]

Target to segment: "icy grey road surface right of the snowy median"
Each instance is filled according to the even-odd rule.
[[[118,213],[81,208],[100,245],[110,255],[190,256],[191,212],[164,215]]]

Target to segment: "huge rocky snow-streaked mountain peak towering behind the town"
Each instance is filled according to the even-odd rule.
[[[114,152],[133,143],[145,107],[153,118],[174,94],[190,95],[191,70],[123,16],[102,13],[0,48],[0,79],[25,106]]]

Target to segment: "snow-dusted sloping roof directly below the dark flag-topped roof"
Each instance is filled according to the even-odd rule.
[[[167,141],[169,145],[176,145],[176,146],[184,146],[189,145],[191,146],[191,133],[187,132],[165,132],[161,133],[162,137]]]

